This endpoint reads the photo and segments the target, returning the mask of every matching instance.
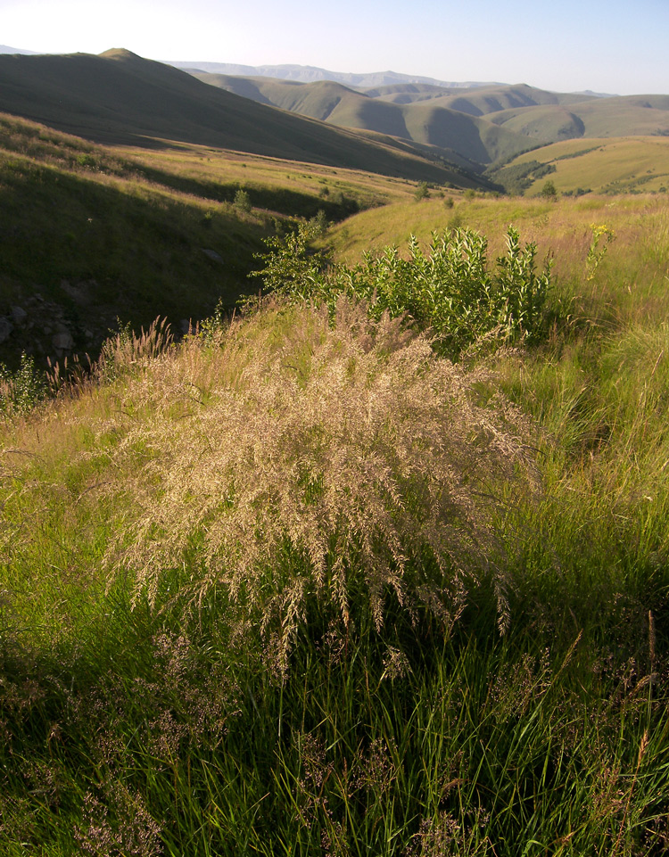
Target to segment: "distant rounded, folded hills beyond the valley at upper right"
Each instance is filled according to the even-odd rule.
[[[215,87],[343,128],[367,128],[491,164],[514,152],[577,137],[669,133],[669,96],[597,97],[536,87],[452,90],[397,84],[354,90],[333,81],[300,83],[193,72]],[[493,127],[503,128],[500,134]],[[453,157],[453,155],[450,155]],[[466,161],[460,161],[465,163]]]

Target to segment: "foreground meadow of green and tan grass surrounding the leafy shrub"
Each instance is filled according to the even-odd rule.
[[[316,249],[466,228],[494,270],[512,224],[533,335],[442,356],[351,276],[5,382],[9,857],[669,852],[664,195],[384,187]]]

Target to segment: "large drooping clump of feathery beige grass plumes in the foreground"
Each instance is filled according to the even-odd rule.
[[[487,567],[508,621],[491,500],[517,478],[526,426],[500,399],[477,404],[482,369],[347,299],[334,327],[325,308],[275,305],[167,364],[128,381],[150,419],[115,452],[135,513],[108,569],[153,600],[169,567],[184,566],[191,605],[222,587],[276,641],[282,671],[314,605],[348,626],[364,600],[378,630],[392,595],[449,627]]]

